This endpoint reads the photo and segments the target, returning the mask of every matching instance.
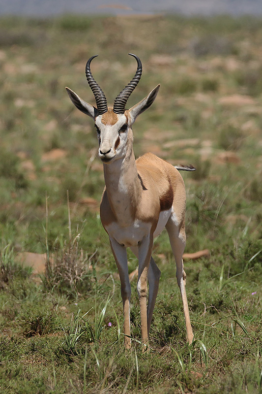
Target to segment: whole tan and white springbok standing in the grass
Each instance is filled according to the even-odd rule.
[[[109,235],[121,282],[125,347],[131,346],[131,287],[126,248],[130,247],[138,258],[137,292],[140,302],[142,343],[145,349],[148,345],[148,334],[161,273],[151,257],[153,239],[165,227],[175,256],[176,278],[182,296],[187,339],[191,343],[193,331],[182,260],[186,242],[186,194],[183,179],[177,169],[194,170],[195,168],[174,167],[152,153],[146,153],[135,160],[132,125],[137,116],[153,103],[160,85],[132,108],[125,109],[127,99],[142,75],[140,59],[132,53],[129,55],[136,59],[137,71],[130,83],[116,97],[113,108],[108,107],[105,94],[90,71],[90,63],[97,55],[92,56],[86,65],[87,82],[95,97],[97,108],[82,100],[71,89],[66,88],[66,90],[74,105],[94,120],[99,138],[98,154],[103,163],[106,185],[100,205],[100,217]],[[146,307],[147,280],[149,291]]]

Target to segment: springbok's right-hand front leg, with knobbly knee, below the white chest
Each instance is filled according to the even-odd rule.
[[[147,295],[147,275],[153,247],[153,234],[146,235],[138,244],[138,282],[137,292],[140,303],[141,334],[142,342],[148,343],[146,295]]]

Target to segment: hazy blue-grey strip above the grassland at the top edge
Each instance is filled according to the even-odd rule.
[[[252,14],[262,12],[259,0],[1,0],[0,14],[54,16],[61,13],[76,14],[139,14],[156,12],[182,13],[184,15]]]

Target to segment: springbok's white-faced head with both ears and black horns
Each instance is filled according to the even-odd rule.
[[[125,109],[126,102],[139,83],[142,75],[142,63],[140,59],[132,53],[129,53],[129,55],[136,59],[138,65],[137,71],[134,78],[116,97],[113,107],[108,107],[106,96],[98,83],[94,80],[90,71],[91,61],[98,55],[92,56],[87,61],[86,65],[87,82],[93,92],[96,107],[81,99],[71,89],[66,88],[73,104],[94,120],[97,136],[99,138],[98,153],[103,163],[123,159],[126,156],[127,149],[132,149],[132,125],[137,116],[149,108],[153,103],[160,87],[160,85],[157,85],[145,99],[138,102],[132,108],[128,110]]]

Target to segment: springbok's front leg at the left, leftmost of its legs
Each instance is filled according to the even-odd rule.
[[[128,276],[127,254],[126,248],[120,245],[114,238],[110,237],[111,249],[116,261],[120,282],[121,282],[121,296],[124,310],[124,344],[127,349],[131,346],[130,339],[130,297],[131,286]]]

